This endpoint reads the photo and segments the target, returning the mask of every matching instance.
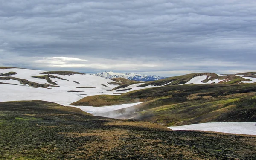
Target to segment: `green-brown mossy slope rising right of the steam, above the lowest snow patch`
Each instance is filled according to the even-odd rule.
[[[132,91],[121,96],[148,101],[102,116],[132,117],[167,126],[256,121],[256,85],[253,84],[165,86]]]

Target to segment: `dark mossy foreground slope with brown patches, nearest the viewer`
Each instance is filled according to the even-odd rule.
[[[91,116],[52,102],[0,103],[0,159],[256,158],[256,137],[170,131],[161,125]]]

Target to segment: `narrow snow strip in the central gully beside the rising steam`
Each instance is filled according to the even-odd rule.
[[[108,111],[114,111],[122,108],[128,108],[134,105],[138,105],[143,102],[138,102],[138,103],[129,103],[129,104],[122,104],[122,105],[111,105],[111,106],[104,106],[104,107],[92,107],[92,106],[72,106],[72,107],[77,107],[80,108],[81,110],[91,113],[91,114],[97,114],[97,113],[104,113]]]

